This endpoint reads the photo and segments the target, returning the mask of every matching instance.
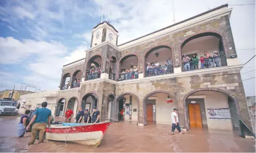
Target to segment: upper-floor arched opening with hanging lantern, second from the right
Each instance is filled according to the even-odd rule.
[[[145,54],[145,76],[173,73],[173,52],[169,46],[160,45]]]

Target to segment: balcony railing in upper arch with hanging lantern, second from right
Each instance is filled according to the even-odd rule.
[[[146,70],[146,77],[173,74],[173,65],[161,66]]]

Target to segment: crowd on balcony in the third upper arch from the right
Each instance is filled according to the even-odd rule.
[[[127,68],[120,72],[119,81],[126,80],[126,79],[135,79],[139,77],[138,66],[130,66],[130,69]]]

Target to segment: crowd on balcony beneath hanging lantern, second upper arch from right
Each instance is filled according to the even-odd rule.
[[[169,57],[165,65],[160,65],[157,61],[154,63],[147,63],[146,76],[166,75],[173,73],[172,59]]]

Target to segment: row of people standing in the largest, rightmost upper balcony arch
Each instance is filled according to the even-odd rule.
[[[192,55],[192,59],[186,54],[183,55],[182,63],[185,71],[205,69],[221,66],[221,59],[218,51],[214,51],[213,55],[209,55],[207,51],[204,52],[204,56],[198,58],[197,55]]]

